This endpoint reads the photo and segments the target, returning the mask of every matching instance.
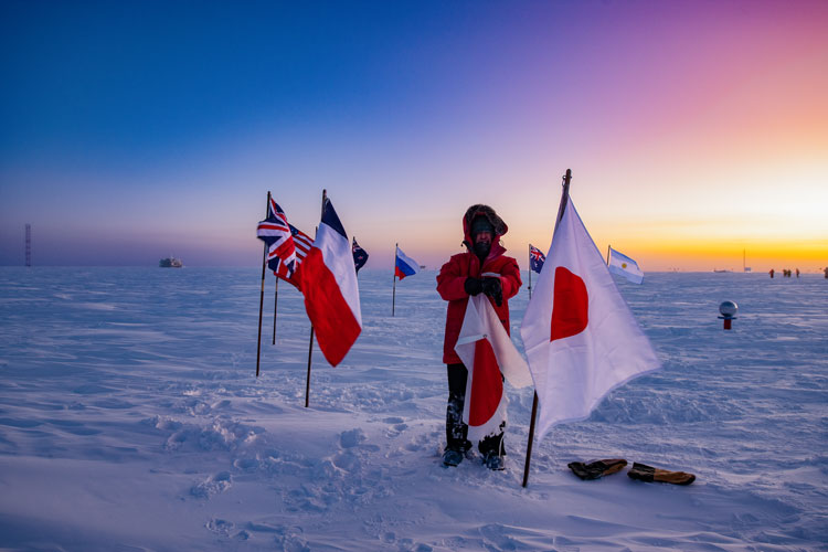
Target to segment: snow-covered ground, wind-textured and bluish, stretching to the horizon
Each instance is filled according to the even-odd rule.
[[[618,280],[664,369],[535,443],[522,488],[529,388],[506,471],[440,464],[434,277],[392,318],[390,270],[361,272],[363,333],[315,351],[306,408],[310,326],[283,283],[270,344],[272,276],[255,378],[261,269],[0,268],[0,549],[828,550],[828,280]],[[698,479],[566,467],[612,457]]]

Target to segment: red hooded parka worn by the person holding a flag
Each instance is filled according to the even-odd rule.
[[[471,241],[471,221],[479,215],[485,215],[495,226],[495,236],[491,241],[491,251],[489,256],[484,259],[482,266],[480,259],[475,255]],[[508,227],[506,223],[495,214],[491,208],[486,205],[473,205],[463,217],[463,232],[465,235],[464,244],[467,247],[466,253],[453,255],[448,262],[443,265],[437,275],[437,293],[443,299],[448,301],[446,311],[446,337],[443,342],[443,362],[446,364],[460,363],[461,360],[454,350],[457,338],[463,327],[463,318],[466,315],[466,306],[469,295],[466,293],[466,278],[499,277],[500,285],[503,289],[503,302],[498,307],[493,299],[489,298],[491,306],[495,308],[500,322],[509,333],[509,299],[518,295],[522,285],[520,279],[520,267],[518,262],[512,257],[503,255],[506,248],[500,245],[500,236],[506,234]]]

